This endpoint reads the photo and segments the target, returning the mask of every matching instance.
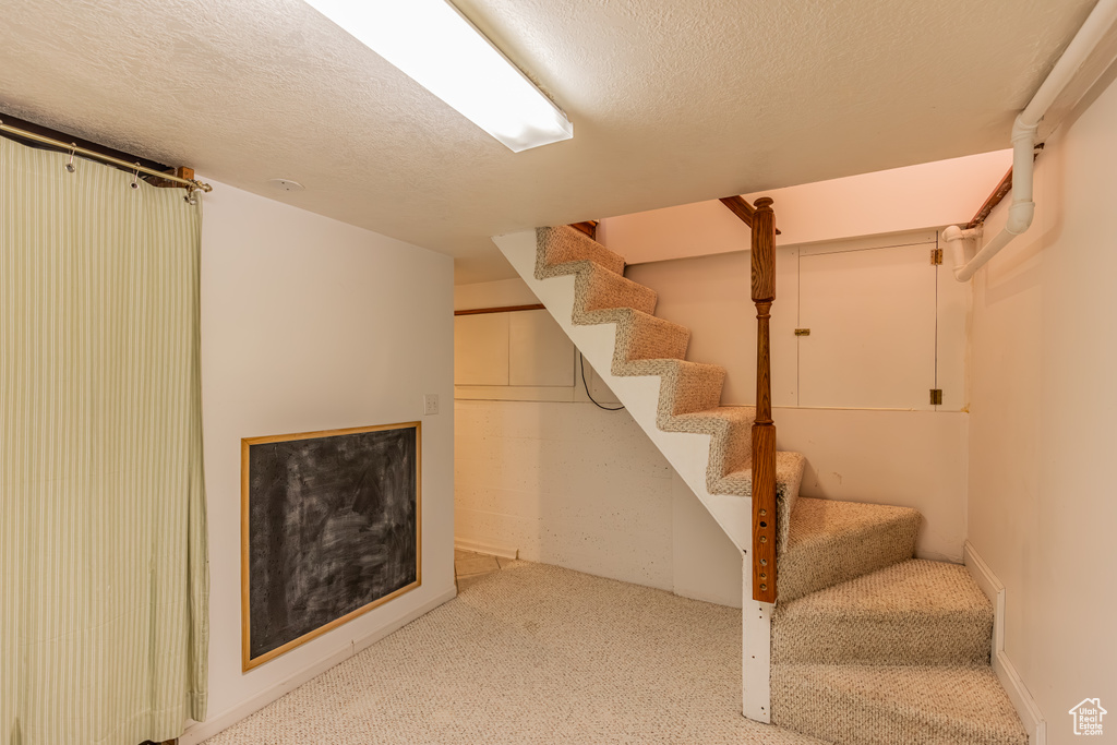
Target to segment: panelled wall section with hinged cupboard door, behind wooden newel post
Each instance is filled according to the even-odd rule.
[[[938,231],[784,246],[772,306],[774,405],[962,411],[970,287],[930,265]],[[756,399],[750,252],[650,261],[626,276],[659,294],[656,315],[690,328],[687,359],[728,371],[724,405]],[[915,285],[913,285],[913,281]],[[795,336],[798,327],[812,329]],[[943,391],[943,405],[928,391]]]

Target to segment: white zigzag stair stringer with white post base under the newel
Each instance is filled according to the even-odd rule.
[[[617,325],[612,323],[575,325],[574,275],[535,278],[535,230],[496,236],[493,238],[500,252],[512,264],[521,278],[547,308],[574,346],[589,360],[605,385],[624,404],[632,419],[651,438],[671,467],[682,477],[695,496],[706,506],[717,524],[742,552],[745,562],[744,598],[746,609],[761,609],[743,613],[744,647],[742,648],[742,697],[744,714],[750,719],[768,722],[771,718],[771,688],[768,682],[772,651],[772,606],[752,600],[752,564],[748,550],[752,545],[752,499],[732,495],[712,495],[706,488],[706,468],[709,461],[710,436],[690,432],[665,432],[656,426],[659,409],[660,379],[656,375],[621,376],[612,374],[613,352],[617,345]]]

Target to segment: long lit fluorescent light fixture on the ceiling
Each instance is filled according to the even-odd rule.
[[[513,152],[574,125],[445,0],[306,0]]]

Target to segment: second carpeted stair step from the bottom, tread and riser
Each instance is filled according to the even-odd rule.
[[[773,662],[987,665],[993,606],[964,566],[900,562],[781,602]]]

